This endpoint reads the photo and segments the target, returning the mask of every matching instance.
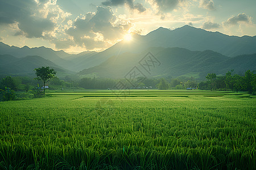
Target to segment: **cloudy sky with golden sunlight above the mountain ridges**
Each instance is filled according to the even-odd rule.
[[[159,27],[255,36],[255,7],[255,0],[0,0],[0,41],[80,53]]]

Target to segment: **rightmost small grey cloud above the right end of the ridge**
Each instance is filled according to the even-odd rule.
[[[223,22],[223,25],[225,26],[237,25],[238,23],[241,23],[241,22],[250,24],[251,17],[246,15],[245,13],[238,14],[237,16],[232,16],[231,18]]]

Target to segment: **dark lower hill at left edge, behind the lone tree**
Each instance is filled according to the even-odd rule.
[[[35,74],[34,69],[42,66],[49,66],[55,71],[57,75],[69,75],[72,74],[71,71],[65,70],[55,63],[44,59],[39,56],[26,56],[23,58],[17,58],[11,55],[0,55],[0,73],[1,74]]]

